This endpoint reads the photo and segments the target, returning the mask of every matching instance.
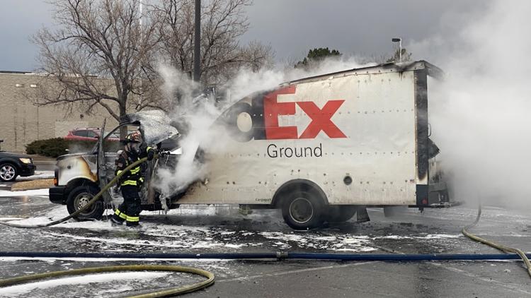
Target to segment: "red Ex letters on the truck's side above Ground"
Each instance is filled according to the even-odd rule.
[[[330,138],[346,138],[345,133],[331,120],[333,114],[345,100],[329,100],[324,107],[319,109],[314,102],[278,102],[277,97],[281,94],[295,94],[295,85],[275,90],[263,98],[263,114],[265,124],[265,138],[268,140],[315,138],[320,131]],[[280,115],[295,115],[295,105],[298,105],[306,113],[312,122],[299,136],[297,126],[279,126]]]

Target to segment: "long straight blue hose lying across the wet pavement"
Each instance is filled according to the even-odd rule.
[[[531,254],[527,254],[531,257]],[[0,251],[0,257],[24,258],[164,258],[164,259],[309,259],[338,261],[481,261],[518,260],[517,254],[316,254],[316,253],[241,253],[241,254],[134,254],[134,253],[76,253],[76,252],[37,252]]]

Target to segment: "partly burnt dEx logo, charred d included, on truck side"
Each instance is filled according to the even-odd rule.
[[[329,100],[323,107],[314,102],[278,102],[278,95],[295,94],[297,86],[290,85],[270,93],[253,97],[251,105],[237,102],[225,115],[227,129],[237,141],[290,140],[316,138],[321,131],[329,138],[347,136],[331,120],[345,100]],[[280,126],[279,117],[295,115],[297,106],[307,114],[310,123],[301,132],[297,126]],[[247,116],[242,117],[241,115]],[[243,120],[242,120],[243,119]],[[241,124],[241,122],[244,124]],[[251,123],[248,123],[251,121]],[[249,128],[249,129],[244,129]],[[300,133],[300,134],[299,134]]]

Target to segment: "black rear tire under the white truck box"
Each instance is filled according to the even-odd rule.
[[[321,227],[326,205],[323,198],[312,191],[293,191],[282,201],[282,217],[294,230]]]

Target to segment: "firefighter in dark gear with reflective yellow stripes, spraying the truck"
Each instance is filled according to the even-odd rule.
[[[141,146],[140,133],[135,131],[120,141],[124,144],[124,149],[118,157],[115,174],[120,174],[125,167],[131,165],[142,157],[147,156],[147,160],[152,160],[155,150],[148,146]],[[143,148],[142,148],[143,147]],[[142,149],[141,149],[142,148]],[[116,208],[111,222],[113,225],[121,225],[124,221],[127,227],[137,227],[139,225],[140,196],[138,194],[144,178],[140,165],[127,171],[120,177],[119,184],[122,191],[123,203]]]

